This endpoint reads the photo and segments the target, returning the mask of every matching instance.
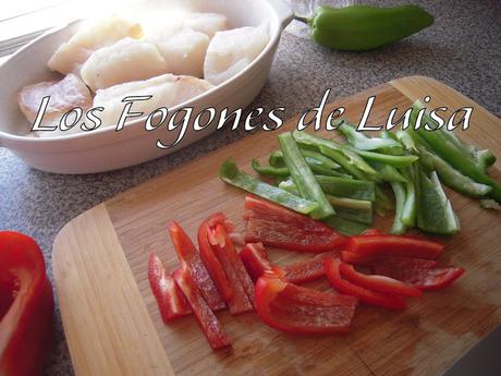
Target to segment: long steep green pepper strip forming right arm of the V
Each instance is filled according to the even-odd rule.
[[[283,161],[291,172],[292,180],[297,186],[303,198],[316,202],[318,208],[310,213],[316,219],[326,218],[335,214],[320,185],[315,180],[311,169],[306,163],[303,154],[294,141],[291,132],[279,135],[280,149],[283,154]]]

